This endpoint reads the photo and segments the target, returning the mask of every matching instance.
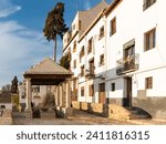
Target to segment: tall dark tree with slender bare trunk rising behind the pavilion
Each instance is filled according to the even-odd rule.
[[[48,13],[45,20],[45,27],[43,29],[44,37],[46,40],[54,41],[54,53],[53,60],[56,62],[56,38],[58,35],[63,38],[63,34],[69,30],[63,19],[64,13],[64,3],[58,2],[53,10]]]

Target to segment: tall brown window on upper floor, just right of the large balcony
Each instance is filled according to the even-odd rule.
[[[145,51],[156,47],[156,29],[153,29],[144,34],[144,43]]]

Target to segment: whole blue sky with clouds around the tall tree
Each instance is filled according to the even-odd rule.
[[[45,56],[52,58],[53,42],[42,30],[48,12],[58,1],[65,3],[65,23],[70,27],[77,10],[87,10],[101,0],[0,0],[0,88]],[[107,0],[111,3],[112,0]],[[59,40],[58,60],[62,54]]]

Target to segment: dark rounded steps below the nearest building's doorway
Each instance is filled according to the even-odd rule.
[[[148,120],[152,119],[151,114],[141,107],[125,107],[131,112],[131,120]]]

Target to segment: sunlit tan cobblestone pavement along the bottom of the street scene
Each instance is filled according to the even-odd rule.
[[[83,111],[74,111],[68,119],[24,119],[13,117],[14,125],[166,125],[160,120],[129,120],[127,122],[108,120]]]

